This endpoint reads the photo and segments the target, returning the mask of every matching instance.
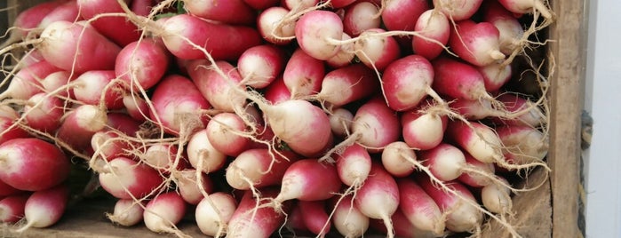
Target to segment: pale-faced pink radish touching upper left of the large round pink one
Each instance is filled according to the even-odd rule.
[[[383,71],[400,57],[399,44],[393,36],[382,36],[386,30],[371,28],[362,32],[354,44],[356,57],[367,67]]]

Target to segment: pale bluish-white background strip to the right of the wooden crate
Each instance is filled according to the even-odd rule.
[[[621,237],[621,1],[586,1],[585,109],[594,120],[584,153],[586,237]]]

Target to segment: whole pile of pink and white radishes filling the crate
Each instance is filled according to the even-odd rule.
[[[0,49],[17,62],[0,221],[52,226],[73,164],[111,222],[179,237],[186,218],[209,236],[521,237],[512,195],[548,170],[527,52],[553,17],[543,0],[35,5]]]

